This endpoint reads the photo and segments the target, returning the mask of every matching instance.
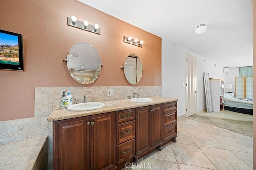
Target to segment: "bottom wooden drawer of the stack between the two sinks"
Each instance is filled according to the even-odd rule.
[[[116,146],[116,164],[131,158],[134,156],[135,151],[135,139],[129,140],[128,142],[124,142],[118,146]]]

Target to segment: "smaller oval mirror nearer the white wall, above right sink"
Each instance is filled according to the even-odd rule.
[[[142,77],[142,63],[135,53],[130,53],[124,61],[124,75],[126,80],[132,85],[139,83]]]

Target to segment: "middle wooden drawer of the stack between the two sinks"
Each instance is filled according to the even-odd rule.
[[[116,144],[135,138],[135,121],[116,126]]]

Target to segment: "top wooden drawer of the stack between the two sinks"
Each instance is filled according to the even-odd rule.
[[[116,124],[135,120],[135,109],[127,109],[116,112]]]

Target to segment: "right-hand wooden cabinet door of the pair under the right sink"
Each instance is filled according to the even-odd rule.
[[[163,106],[153,105],[150,110],[150,147],[157,146],[163,140]]]

